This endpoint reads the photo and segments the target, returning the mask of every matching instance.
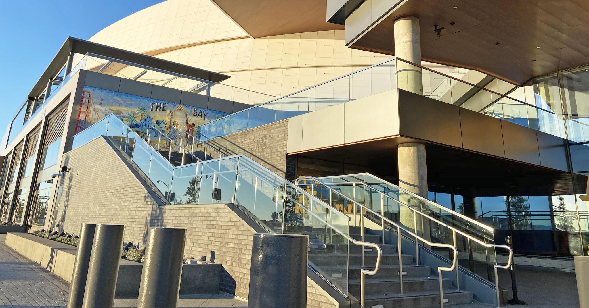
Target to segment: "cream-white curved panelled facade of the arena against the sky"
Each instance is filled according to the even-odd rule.
[[[231,76],[223,84],[277,97],[391,58],[346,47],[343,30],[253,39],[210,0],[168,0],[150,6],[90,41],[221,72]],[[118,71],[127,77],[137,73],[136,68]],[[161,84],[162,79],[145,75],[142,81]],[[184,81],[173,84],[179,82]]]

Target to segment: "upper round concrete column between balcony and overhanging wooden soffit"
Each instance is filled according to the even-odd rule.
[[[395,57],[421,65],[421,41],[419,40],[419,19],[403,16],[395,20]],[[402,90],[423,94],[421,68],[402,61],[397,62],[397,87]]]

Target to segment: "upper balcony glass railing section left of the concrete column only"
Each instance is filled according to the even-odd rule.
[[[227,115],[200,125],[195,131],[200,140],[223,137],[394,88],[396,88],[395,59],[390,59],[265,104]]]

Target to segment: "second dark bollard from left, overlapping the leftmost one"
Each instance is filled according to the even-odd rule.
[[[112,308],[125,226],[97,224],[83,308]]]

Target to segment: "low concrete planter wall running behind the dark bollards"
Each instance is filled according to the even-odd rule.
[[[29,233],[6,234],[6,245],[57,276],[71,282],[77,247]],[[117,298],[137,298],[143,264],[121,259],[117,276]],[[184,264],[180,295],[219,293],[221,264]]]

